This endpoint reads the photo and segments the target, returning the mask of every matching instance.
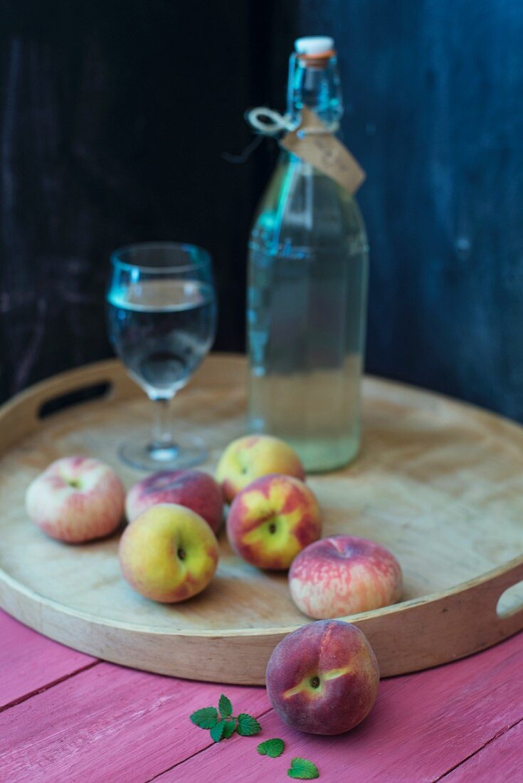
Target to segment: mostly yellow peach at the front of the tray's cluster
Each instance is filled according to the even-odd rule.
[[[201,593],[215,576],[218,541],[207,522],[175,503],[143,511],[118,550],[124,579],[152,601],[175,604]]]

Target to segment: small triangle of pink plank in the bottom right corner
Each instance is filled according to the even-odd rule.
[[[523,720],[504,731],[442,778],[444,783],[507,783],[523,780]]]

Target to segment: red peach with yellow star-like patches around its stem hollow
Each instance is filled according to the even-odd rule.
[[[269,474],[236,495],[227,518],[233,550],[258,568],[285,570],[321,535],[316,496],[292,476]]]

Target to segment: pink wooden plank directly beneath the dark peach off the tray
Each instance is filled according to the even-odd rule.
[[[523,717],[521,666],[523,634],[452,665],[384,680],[369,718],[335,738],[299,734],[271,711],[258,737],[208,749],[160,781],[204,781],[218,769],[227,769],[227,783],[285,780],[292,756],[316,763],[324,781],[434,781]],[[256,752],[271,737],[286,742],[276,760]]]

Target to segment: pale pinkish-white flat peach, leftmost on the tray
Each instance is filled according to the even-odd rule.
[[[65,456],[31,482],[26,510],[48,536],[85,543],[117,529],[124,497],[124,487],[109,465],[88,456]]]

